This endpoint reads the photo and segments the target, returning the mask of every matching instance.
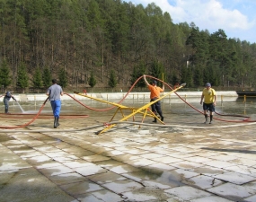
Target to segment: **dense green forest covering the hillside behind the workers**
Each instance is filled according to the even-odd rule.
[[[154,3],[0,0],[0,13],[3,90],[44,88],[51,78],[69,89],[128,88],[144,74],[190,88],[256,85],[256,43],[175,24]]]

